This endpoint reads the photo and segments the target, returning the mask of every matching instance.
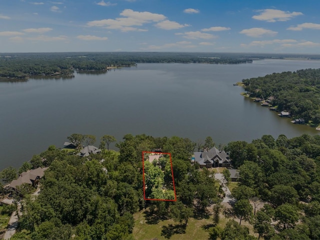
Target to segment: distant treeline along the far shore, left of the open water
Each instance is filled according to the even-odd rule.
[[[0,77],[71,75],[74,69],[106,70],[107,67],[132,66],[136,63],[166,62],[237,64],[252,60],[241,55],[181,52],[2,53]]]

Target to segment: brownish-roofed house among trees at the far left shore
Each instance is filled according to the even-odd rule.
[[[39,179],[44,175],[44,171],[47,169],[47,167],[38,167],[35,169],[31,169],[29,171],[23,171],[18,179],[12,180],[9,184],[9,187],[13,189],[17,189],[17,186],[27,183],[32,185],[33,187],[37,186],[37,183]]]

